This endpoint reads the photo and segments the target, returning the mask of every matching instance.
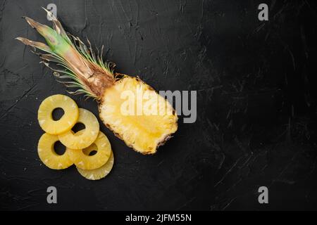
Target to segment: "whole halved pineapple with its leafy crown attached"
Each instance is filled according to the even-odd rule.
[[[95,98],[99,103],[101,120],[128,146],[142,154],[156,153],[156,149],[178,129],[178,116],[170,103],[139,78],[113,73],[113,64],[102,60],[102,49],[101,55],[97,56],[90,43],[86,46],[79,38],[66,34],[54,15],[46,12],[52,18],[54,30],[30,18],[25,20],[44,37],[48,45],[23,37],[17,39],[46,52],[39,53],[44,65],[49,66],[50,62],[62,65],[66,70],[49,68],[61,79],[73,79],[65,82],[66,86],[78,88],[73,94]],[[123,113],[126,103],[123,96],[127,96],[127,91],[134,101],[132,105],[136,105],[135,114]],[[146,96],[139,94],[143,91],[147,93]]]

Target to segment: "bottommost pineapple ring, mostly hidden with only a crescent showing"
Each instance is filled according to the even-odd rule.
[[[114,162],[113,151],[111,150],[110,158],[103,166],[97,169],[80,169],[77,167],[77,170],[80,173],[80,175],[84,176],[86,179],[99,180],[101,178],[104,178],[111,172],[111,169],[113,167],[113,162]]]

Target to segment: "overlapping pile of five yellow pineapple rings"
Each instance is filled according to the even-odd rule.
[[[59,120],[54,120],[52,116],[56,108],[64,111]],[[37,147],[44,165],[51,169],[66,169],[75,164],[78,172],[90,180],[104,178],[111,171],[114,158],[110,142],[99,131],[99,122],[94,114],[78,108],[72,98],[61,94],[49,96],[39,105],[38,120],[40,127],[46,131]],[[85,125],[85,129],[75,133],[72,128],[79,122]],[[66,146],[63,155],[54,150],[57,141]]]

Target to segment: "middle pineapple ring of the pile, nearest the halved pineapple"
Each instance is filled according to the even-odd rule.
[[[68,148],[87,148],[92,143],[94,143],[94,140],[97,139],[99,133],[99,122],[93,113],[83,108],[79,109],[79,117],[77,122],[85,124],[85,129],[83,129],[82,132],[77,132],[74,134],[72,130],[66,131],[63,134],[59,134],[58,139],[61,141],[61,143],[63,143],[64,146]]]

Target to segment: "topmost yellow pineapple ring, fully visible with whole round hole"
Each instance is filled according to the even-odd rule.
[[[56,108],[62,108],[64,115],[59,120],[53,120],[52,113]],[[77,122],[78,106],[72,98],[62,94],[49,96],[39,105],[37,119],[39,126],[49,134],[61,134],[69,131]]]

